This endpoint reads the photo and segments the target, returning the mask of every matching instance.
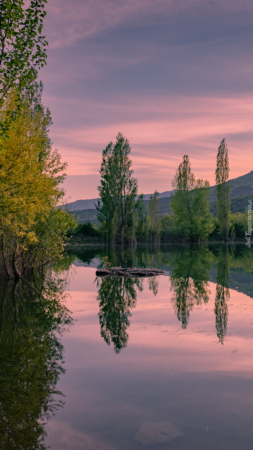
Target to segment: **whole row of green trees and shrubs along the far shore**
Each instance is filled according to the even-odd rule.
[[[114,245],[145,242],[158,244],[160,241],[227,242],[245,238],[246,214],[231,214],[230,211],[231,186],[228,183],[228,150],[225,139],[218,148],[215,172],[217,217],[210,212],[210,184],[207,180],[195,179],[187,155],[183,157],[172,180],[171,216],[162,213],[157,191],[151,195],[147,205],[142,193],[135,201],[138,181],[133,177],[130,150],[128,139],[119,133],[116,143],[110,142],[102,153],[101,181],[98,186],[101,199],[96,205],[99,226],[89,227],[96,230],[103,240]],[[77,229],[77,233],[79,231]]]

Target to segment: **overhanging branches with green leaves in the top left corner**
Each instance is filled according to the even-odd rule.
[[[32,87],[36,66],[46,64],[48,43],[41,36],[46,0],[0,1],[0,108],[15,87],[15,98],[0,121],[0,139],[9,136],[13,120],[22,111],[22,89]],[[2,139],[1,139],[2,141]]]

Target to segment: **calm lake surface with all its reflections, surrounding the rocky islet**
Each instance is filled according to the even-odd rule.
[[[53,450],[252,449],[253,252],[243,245],[137,247],[112,252],[105,247],[79,247],[78,251],[55,267],[68,293],[61,308],[66,305],[72,311],[74,323],[56,303],[52,311],[48,303],[43,311],[29,310],[22,322],[23,330],[29,322],[29,336],[28,316],[36,317],[34,335],[42,327],[41,333],[47,336],[44,330],[48,329],[45,356],[38,357],[37,372],[27,373],[24,382],[27,385],[29,380],[35,397],[36,393],[41,397],[40,387],[44,392],[44,384],[36,379],[47,366],[45,359],[53,358],[56,364],[64,351],[65,363],[54,369],[54,392],[48,396],[65,404],[57,407],[45,425],[44,444]],[[112,266],[157,266],[165,274],[147,279],[97,279],[96,268],[107,261],[105,257]],[[56,291],[50,294],[55,302]],[[20,295],[27,296],[27,287]],[[13,291],[9,296],[13,302]],[[26,301],[38,308],[41,301],[28,297]],[[41,314],[44,321],[48,314],[51,322],[44,325]],[[8,323],[6,319],[5,327]],[[20,336],[26,333],[20,330]],[[9,347],[6,344],[4,351],[10,355],[10,348],[15,348],[10,347],[13,328],[6,336],[4,345],[9,342]],[[40,347],[41,342],[44,337],[39,338]],[[50,356],[52,348],[56,349],[54,356]],[[41,350],[33,351],[37,355]],[[29,361],[31,357],[32,351]],[[7,366],[1,383],[9,392]],[[53,385],[53,375],[49,385]],[[17,386],[15,391],[11,385],[13,392]],[[9,401],[16,398],[15,392]],[[13,407],[16,410],[8,410],[8,417],[24,424],[25,415],[19,417],[21,404],[14,401]],[[17,445],[20,431],[12,423],[6,425],[2,411],[2,428],[5,433],[16,433]],[[27,424],[22,427],[32,435]],[[11,442],[2,448],[28,446]]]

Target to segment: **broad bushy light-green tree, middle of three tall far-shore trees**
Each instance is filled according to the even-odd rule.
[[[209,211],[210,184],[207,180],[195,180],[187,155],[178,167],[172,180],[174,192],[171,194],[173,225],[182,238],[191,237],[198,241],[207,238],[213,230],[212,215]]]

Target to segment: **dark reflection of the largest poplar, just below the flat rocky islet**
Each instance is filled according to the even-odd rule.
[[[119,353],[127,346],[130,310],[135,308],[137,292],[143,290],[141,278],[104,277],[98,279],[99,323],[101,336],[108,345],[113,342]]]

